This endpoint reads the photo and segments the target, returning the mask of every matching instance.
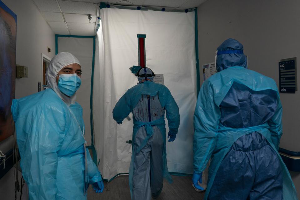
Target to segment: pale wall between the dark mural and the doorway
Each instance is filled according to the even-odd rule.
[[[54,56],[55,35],[32,0],[2,0],[2,2],[17,14],[16,63],[28,67],[28,78],[16,79],[16,98],[21,98],[38,92],[37,84],[39,81],[42,82],[42,53],[50,58]],[[47,53],[47,47],[51,48],[51,53]],[[0,143],[0,150],[3,153],[11,148],[12,137]],[[1,197],[4,194],[3,199],[13,199],[12,170],[2,179]]]

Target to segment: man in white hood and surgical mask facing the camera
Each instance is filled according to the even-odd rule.
[[[46,78],[46,90],[14,99],[11,107],[29,198],[85,200],[88,184],[97,193],[104,185],[85,148],[83,110],[75,102],[81,85],[78,59],[58,53]]]

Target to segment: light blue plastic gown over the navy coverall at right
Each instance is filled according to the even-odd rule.
[[[232,128],[228,127],[226,124],[220,123],[220,121],[226,122],[226,117],[232,117],[228,115],[222,116],[221,112],[226,112],[226,110],[221,109],[220,105],[224,103],[223,100],[226,99],[225,97],[227,94],[232,94],[230,93],[230,90],[232,85],[235,84],[237,86],[233,88],[247,87],[247,90],[252,93],[253,91],[258,93],[260,91],[275,91],[277,95],[277,104],[275,108],[269,108],[273,109],[273,114],[272,116],[268,116],[268,121],[260,119],[260,122],[264,123],[244,128]],[[236,93],[237,90],[238,89],[233,93]],[[242,96],[242,92],[240,92],[239,95]],[[257,113],[259,113],[259,110],[261,112],[263,112],[264,109],[266,110],[263,99],[260,99],[259,95],[256,96],[256,98],[251,99],[251,101],[256,101],[257,107],[255,108],[255,106],[253,106],[253,109],[256,109]],[[234,103],[235,102],[233,102],[233,104]],[[253,112],[255,112],[255,110]],[[232,115],[236,115],[235,117],[237,119],[242,118],[242,115],[248,115],[248,113],[242,113],[242,109],[240,113],[231,113]],[[212,185],[217,184],[218,180],[214,180],[214,178],[219,166],[232,145],[243,135],[253,132],[258,132],[267,139],[280,161],[283,173],[283,199],[297,199],[295,186],[277,151],[282,134],[281,115],[282,107],[279,101],[276,83],[271,78],[265,77],[259,73],[247,70],[243,67],[230,67],[216,73],[203,83],[194,116],[194,170],[196,173],[201,173],[206,168],[207,162],[211,158],[205,199],[207,199]],[[221,118],[221,116],[223,118]],[[267,157],[269,155],[265,156]],[[244,176],[244,174],[239,174],[238,172],[239,171],[237,170],[237,177]],[[263,176],[263,174],[261,175]],[[233,197],[231,199],[233,199]]]

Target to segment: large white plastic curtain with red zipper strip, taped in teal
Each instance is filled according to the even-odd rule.
[[[167,142],[170,172],[192,173],[193,114],[196,104],[194,12],[159,12],[118,8],[100,10],[94,73],[94,129],[99,169],[111,180],[128,173],[131,159],[131,120],[117,125],[112,110],[118,99],[137,84],[129,70],[138,65],[137,34],[146,34],[146,66],[163,74],[180,109],[180,127]],[[140,97],[137,97],[140,98]],[[167,120],[166,120],[167,122]],[[168,133],[168,124],[167,133]]]

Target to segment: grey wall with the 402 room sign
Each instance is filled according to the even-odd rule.
[[[299,8],[298,0],[206,1],[198,8],[200,67],[214,62],[217,47],[231,37],[244,45],[249,69],[273,78],[279,85],[280,59],[298,57],[297,77],[300,78]],[[280,98],[283,107],[280,147],[300,151],[300,88],[295,94],[280,94]],[[292,173],[292,178],[300,192],[299,173]]]

